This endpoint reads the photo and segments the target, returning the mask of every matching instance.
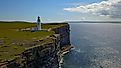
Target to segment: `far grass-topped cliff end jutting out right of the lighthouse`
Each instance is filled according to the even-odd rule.
[[[52,26],[51,26],[52,25]],[[60,35],[60,46],[70,45],[70,26],[67,23],[49,23],[44,24],[43,29],[54,31],[55,34]]]

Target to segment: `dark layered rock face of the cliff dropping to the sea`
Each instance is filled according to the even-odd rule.
[[[41,44],[42,40],[38,40],[35,46],[27,48],[16,59],[0,63],[0,68],[59,68],[61,48],[70,45],[69,24],[50,30],[55,34],[43,39],[51,39],[49,43]]]

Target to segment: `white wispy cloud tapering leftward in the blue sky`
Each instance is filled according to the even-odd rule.
[[[103,0],[100,3],[81,5],[74,8],[64,8],[70,12],[92,13],[99,16],[121,18],[121,0]]]

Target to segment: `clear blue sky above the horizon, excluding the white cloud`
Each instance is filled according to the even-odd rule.
[[[90,13],[77,12],[77,7],[102,0],[0,0],[0,20],[36,21],[41,16],[43,21],[66,20],[119,20],[101,17]],[[74,11],[72,11],[74,9]],[[104,16],[104,15],[102,15]]]

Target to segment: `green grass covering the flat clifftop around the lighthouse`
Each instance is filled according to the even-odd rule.
[[[32,44],[33,41],[53,35],[53,31],[17,31],[17,29],[36,27],[36,24],[27,22],[0,22],[0,62],[12,60],[16,55],[32,46],[19,45]],[[14,44],[14,43],[18,44]],[[52,39],[45,39],[42,43],[50,43]],[[3,43],[3,44],[2,44]]]

